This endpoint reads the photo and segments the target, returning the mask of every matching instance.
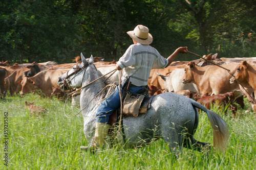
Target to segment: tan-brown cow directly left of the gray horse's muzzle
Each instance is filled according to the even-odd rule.
[[[52,87],[59,87],[57,85],[58,77],[69,70],[70,69],[48,69],[38,72],[38,74],[31,78],[25,77],[21,82],[22,91],[20,94],[26,94],[37,86],[37,88],[41,89],[46,96],[50,96],[52,93]]]

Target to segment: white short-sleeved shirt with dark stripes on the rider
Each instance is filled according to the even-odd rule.
[[[147,85],[151,69],[165,68],[168,60],[150,45],[132,44],[117,62],[124,70],[123,76],[130,77],[130,82],[136,86]]]

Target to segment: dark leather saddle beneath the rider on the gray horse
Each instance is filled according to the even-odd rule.
[[[139,114],[146,114],[146,111],[151,108],[151,102],[156,95],[145,95],[138,113],[127,113],[122,116],[138,116]],[[118,122],[121,115],[121,108],[117,108],[110,116],[108,124],[114,128],[114,125]]]

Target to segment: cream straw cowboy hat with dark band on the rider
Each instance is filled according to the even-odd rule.
[[[142,25],[136,26],[133,31],[128,31],[127,34],[135,41],[144,45],[148,45],[153,42],[153,37],[148,33],[148,28]]]

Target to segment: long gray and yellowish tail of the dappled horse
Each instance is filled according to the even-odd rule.
[[[197,103],[194,100],[191,100],[191,101],[193,106],[206,112],[210,120],[210,125],[212,129],[214,129],[214,147],[222,151],[226,147],[228,137],[229,137],[228,127],[226,122],[217,113],[211,110],[208,110],[206,107]]]

